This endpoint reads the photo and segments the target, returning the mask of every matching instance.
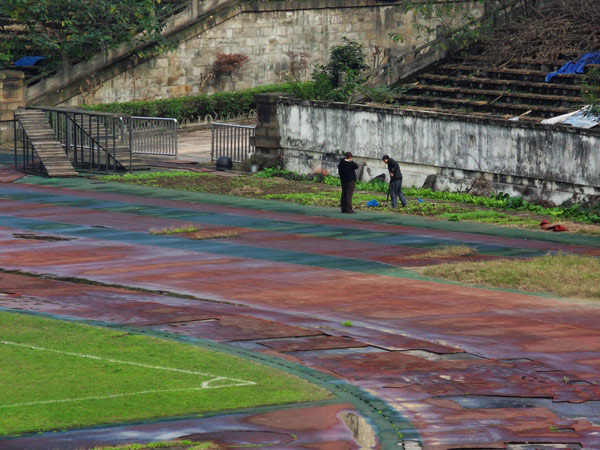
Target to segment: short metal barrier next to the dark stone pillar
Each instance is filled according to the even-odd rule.
[[[254,153],[254,130],[256,127],[228,123],[212,124],[210,158],[229,156],[233,162],[244,162]]]

